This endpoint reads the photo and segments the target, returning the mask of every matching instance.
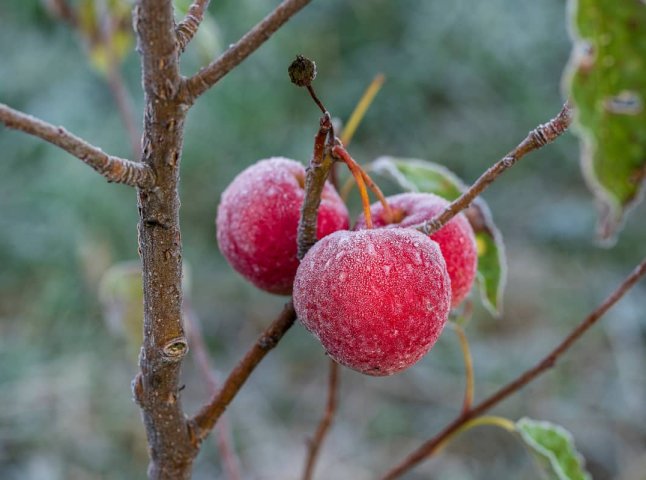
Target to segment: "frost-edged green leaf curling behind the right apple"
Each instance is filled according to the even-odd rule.
[[[415,159],[380,157],[368,167],[392,178],[409,192],[429,192],[455,200],[467,187],[446,167]],[[489,207],[481,198],[465,210],[476,234],[478,246],[478,286],[483,305],[494,316],[502,311],[502,293],[507,278],[505,245],[493,222]]]

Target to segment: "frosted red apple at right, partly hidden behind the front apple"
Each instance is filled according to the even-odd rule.
[[[402,193],[386,199],[393,210],[395,222],[388,224],[380,203],[370,207],[372,223],[377,227],[411,227],[441,213],[448,201],[432,193]],[[365,219],[357,219],[355,229],[365,228]],[[457,307],[469,294],[478,267],[475,234],[469,221],[460,213],[453,217],[431,239],[440,245],[451,279],[451,306]]]

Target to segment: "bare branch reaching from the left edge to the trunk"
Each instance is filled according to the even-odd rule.
[[[62,148],[99,172],[109,182],[123,183],[143,190],[150,190],[155,185],[153,170],[148,165],[108,155],[63,127],[54,126],[2,103],[0,122],[8,128],[34,135]]]

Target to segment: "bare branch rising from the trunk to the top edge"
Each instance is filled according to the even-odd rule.
[[[311,0],[283,0],[273,12],[249,30],[220,57],[186,80],[187,103],[193,103],[222,77],[258,49]]]

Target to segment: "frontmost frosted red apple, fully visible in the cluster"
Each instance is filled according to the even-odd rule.
[[[330,357],[391,375],[433,346],[448,318],[451,284],[440,249],[412,229],[336,232],[305,255],[294,308]]]

